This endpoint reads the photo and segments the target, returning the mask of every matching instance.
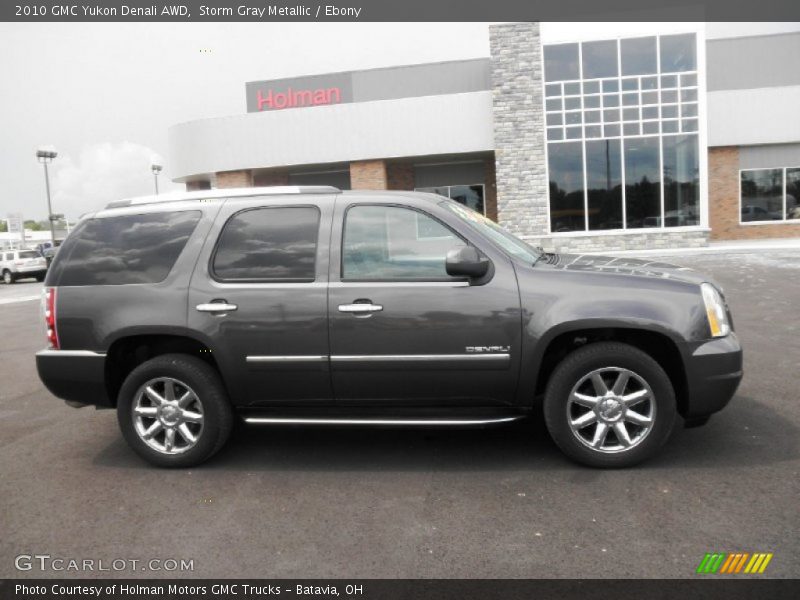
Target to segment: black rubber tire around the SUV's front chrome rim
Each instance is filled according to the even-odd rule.
[[[640,441],[622,450],[604,452],[589,447],[588,440],[586,443],[582,442],[579,439],[580,435],[573,432],[570,426],[571,406],[568,405],[568,401],[573,388],[583,378],[592,372],[607,368],[630,371],[649,385],[652,391],[654,417],[649,431],[646,435],[641,436]],[[633,379],[633,381],[636,383],[638,379]],[[591,384],[587,382],[586,385]],[[594,389],[594,386],[592,388]],[[646,402],[646,406],[651,407],[650,401]],[[592,412],[592,409],[584,410]],[[625,414],[624,408],[620,410]],[[618,342],[589,344],[569,354],[550,377],[544,399],[545,423],[556,445],[569,458],[581,464],[599,468],[630,467],[652,457],[672,433],[676,412],[675,391],[664,369],[645,352]],[[599,416],[597,420],[600,420]],[[592,425],[586,427],[591,428]],[[598,427],[598,425],[594,425],[594,427]],[[614,424],[610,424],[608,427],[610,427],[609,431],[613,431]],[[639,430],[637,425],[632,424],[626,424],[626,427],[633,427],[637,431],[643,430]],[[583,431],[591,433],[592,429]],[[616,432],[612,436],[612,439],[616,438]],[[621,438],[619,439],[621,440]],[[601,442],[601,444],[603,443],[605,442]],[[618,441],[616,445],[624,446],[621,441]]]

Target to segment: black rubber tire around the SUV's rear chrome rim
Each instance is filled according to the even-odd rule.
[[[159,377],[177,380],[190,388],[201,404],[202,430],[194,446],[180,454],[152,448],[137,433],[134,423],[133,406],[141,388]],[[233,411],[219,373],[213,367],[194,356],[164,354],[142,363],[125,379],[117,400],[117,420],[125,441],[139,456],[158,467],[180,468],[199,465],[225,445],[233,427]]]

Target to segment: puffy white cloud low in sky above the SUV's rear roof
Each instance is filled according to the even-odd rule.
[[[163,164],[153,150],[132,142],[92,144],[77,160],[59,157],[53,163],[53,212],[76,219],[113,200],[152,194],[153,162]],[[162,191],[174,188],[163,172],[158,184]]]

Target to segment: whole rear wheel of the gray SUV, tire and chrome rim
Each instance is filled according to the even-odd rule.
[[[185,354],[165,354],[131,371],[119,392],[125,440],[159,467],[191,467],[227,441],[233,414],[218,373]]]

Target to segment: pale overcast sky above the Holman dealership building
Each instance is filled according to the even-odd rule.
[[[544,23],[542,37],[598,27]],[[715,24],[707,35],[798,29]],[[74,220],[152,193],[154,161],[162,191],[183,189],[171,182],[169,127],[246,112],[247,81],[488,55],[487,23],[0,23],[0,218],[46,218],[40,146],[59,153],[53,212]]]

